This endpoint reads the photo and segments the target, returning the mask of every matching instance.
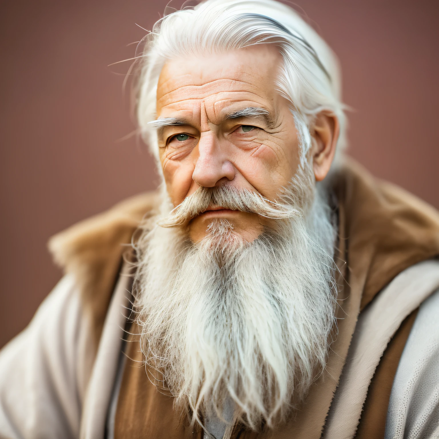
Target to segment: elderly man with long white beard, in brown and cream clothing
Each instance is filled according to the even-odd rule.
[[[439,435],[439,215],[342,156],[334,55],[272,0],[160,20],[162,186],[55,236],[0,356],[5,438]]]

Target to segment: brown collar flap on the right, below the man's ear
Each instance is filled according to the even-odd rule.
[[[349,273],[364,279],[361,309],[399,273],[439,256],[439,212],[351,159],[332,180],[339,233],[349,241]]]

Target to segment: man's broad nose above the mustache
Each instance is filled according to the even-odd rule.
[[[199,186],[214,187],[220,180],[235,178],[235,168],[212,132],[204,132],[198,142],[199,156],[192,178]]]

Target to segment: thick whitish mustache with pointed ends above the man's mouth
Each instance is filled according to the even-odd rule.
[[[194,194],[186,197],[168,216],[158,222],[162,227],[175,227],[205,212],[209,206],[256,213],[265,218],[285,219],[300,216],[295,207],[273,202],[256,191],[233,186],[200,187]]]

